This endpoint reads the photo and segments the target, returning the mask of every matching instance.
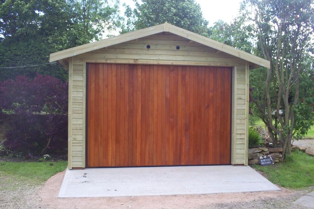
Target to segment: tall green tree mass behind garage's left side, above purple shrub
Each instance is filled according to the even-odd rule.
[[[101,0],[6,0],[0,2],[0,67],[47,63],[49,54],[99,40],[120,26],[118,6]],[[66,80],[57,64],[0,69],[0,80],[37,73]]]

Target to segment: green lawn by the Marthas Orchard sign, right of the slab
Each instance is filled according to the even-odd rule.
[[[272,166],[253,165],[252,168],[266,174],[268,180],[288,189],[314,186],[314,157],[294,151],[284,163]]]

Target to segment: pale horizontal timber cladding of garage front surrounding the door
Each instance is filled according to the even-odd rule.
[[[176,38],[177,37],[177,38]],[[147,49],[147,45],[150,49]],[[176,49],[180,46],[180,50]],[[176,64],[234,67],[232,164],[247,164],[246,62],[174,35],[152,35],[69,58],[68,168],[85,168],[86,63]],[[247,65],[248,66],[248,65]],[[235,75],[236,74],[236,75]],[[247,109],[246,109],[247,108]]]

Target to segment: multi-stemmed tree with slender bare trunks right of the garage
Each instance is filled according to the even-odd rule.
[[[299,102],[299,98],[302,79],[310,75],[309,69],[313,67],[310,52],[314,8],[309,0],[246,0],[242,9],[254,23],[257,47],[270,61],[263,88],[253,88],[250,96],[275,146],[277,139],[281,142],[284,157],[285,153],[291,153],[295,128],[300,130],[297,127],[300,121],[296,123],[296,120],[302,110],[298,105],[309,105],[304,104],[304,100]],[[261,78],[263,76],[259,75],[259,80]],[[284,111],[283,115],[279,114],[280,109]],[[276,120],[273,120],[273,111]],[[305,114],[307,118],[313,118],[312,111],[307,110]]]

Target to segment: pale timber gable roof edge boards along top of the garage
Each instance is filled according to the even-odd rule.
[[[169,33],[181,36],[183,38],[187,38],[189,40],[198,42],[205,46],[214,48],[216,50],[225,52],[227,54],[239,57],[243,60],[246,60],[248,62],[255,64],[254,67],[262,66],[262,67],[270,68],[270,62],[268,60],[252,55],[245,51],[241,51],[239,49],[233,48],[232,46],[228,46],[218,41],[206,38],[202,35],[198,35],[191,31],[179,28],[169,23],[155,25],[149,28],[132,31],[126,34],[122,34],[122,35],[114,36],[111,38],[84,44],[81,46],[76,46],[70,49],[58,51],[58,52],[50,54],[49,62],[62,60],[71,56],[76,56],[76,55],[83,54],[89,51],[94,51],[94,50],[101,49],[107,46],[120,44],[126,41],[135,40],[138,38],[143,38],[145,36],[154,35],[154,34],[162,33],[162,32],[169,32]]]

